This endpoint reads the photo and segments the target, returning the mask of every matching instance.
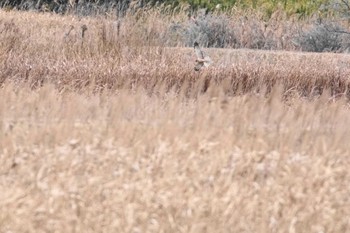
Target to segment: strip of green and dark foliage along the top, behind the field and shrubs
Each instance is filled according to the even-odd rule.
[[[130,7],[145,8],[169,6],[170,9],[187,7],[190,10],[205,8],[208,11],[229,11],[232,8],[256,9],[270,16],[276,10],[301,16],[329,11],[348,11],[349,0],[0,0],[0,7],[21,10],[44,10],[65,13],[76,11],[91,14],[106,10],[125,13]]]

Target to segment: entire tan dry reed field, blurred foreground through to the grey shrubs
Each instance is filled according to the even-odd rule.
[[[0,232],[350,232],[348,55],[133,20],[0,11]]]

